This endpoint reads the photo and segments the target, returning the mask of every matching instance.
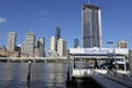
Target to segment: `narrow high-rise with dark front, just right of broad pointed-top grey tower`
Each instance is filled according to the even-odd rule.
[[[38,52],[40,52],[40,56],[44,57],[45,56],[45,52],[44,52],[44,47],[45,47],[45,38],[44,37],[40,37],[38,38]]]

